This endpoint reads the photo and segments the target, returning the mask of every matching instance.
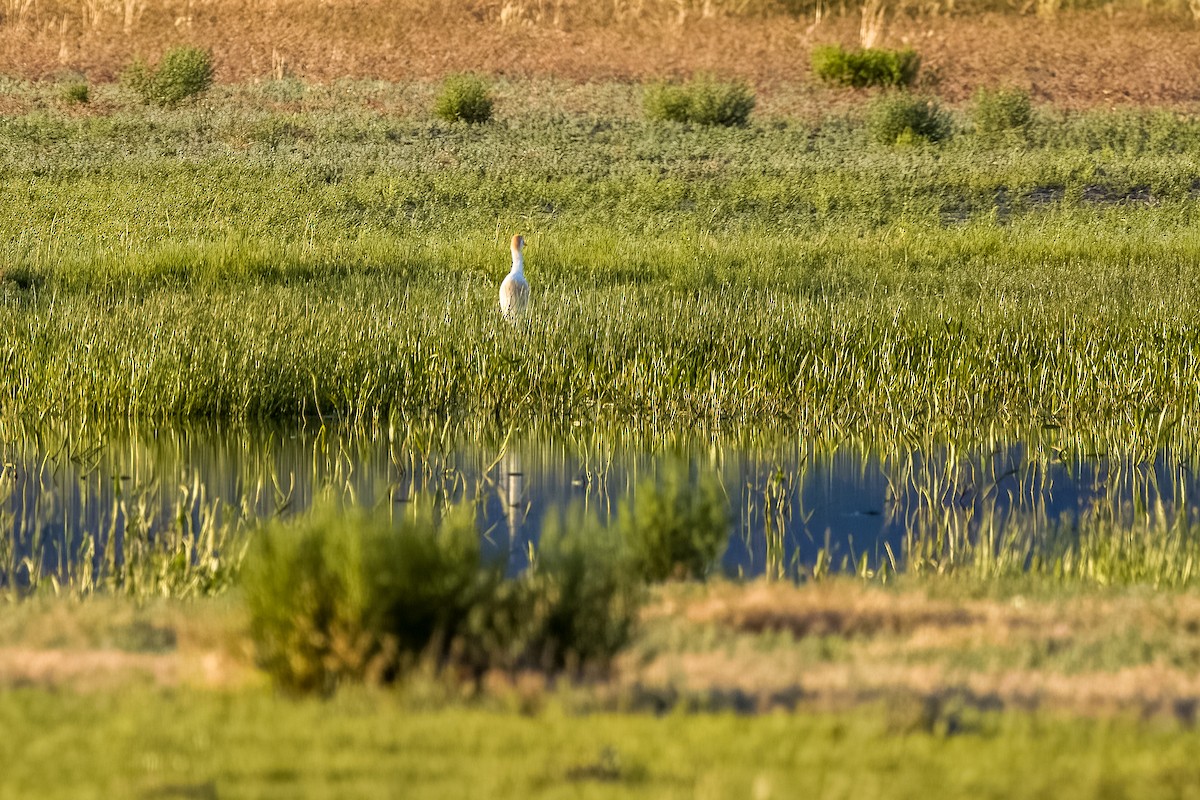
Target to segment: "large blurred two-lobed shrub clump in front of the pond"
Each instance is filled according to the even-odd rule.
[[[604,668],[628,642],[640,584],[595,523],[551,528],[536,569],[481,561],[473,506],[407,515],[324,509],[262,531],[244,570],[259,663],[286,690],[389,681],[418,663]]]

